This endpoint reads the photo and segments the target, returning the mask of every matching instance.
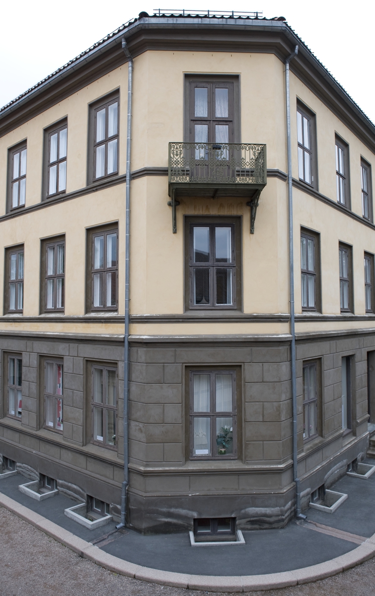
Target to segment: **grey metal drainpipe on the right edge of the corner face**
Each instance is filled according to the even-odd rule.
[[[298,54],[298,46],[285,61],[286,87],[286,130],[287,130],[287,161],[288,161],[288,232],[289,232],[289,299],[290,299],[290,361],[292,368],[292,414],[293,414],[293,480],[296,484],[296,517],[306,519],[301,513],[300,483],[297,473],[297,388],[296,388],[296,330],[295,330],[295,279],[293,265],[293,187],[292,187],[292,142],[290,139],[290,92],[289,92],[289,63]]]

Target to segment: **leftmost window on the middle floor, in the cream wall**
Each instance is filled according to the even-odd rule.
[[[23,246],[7,249],[5,252],[5,288],[4,312],[23,312]]]

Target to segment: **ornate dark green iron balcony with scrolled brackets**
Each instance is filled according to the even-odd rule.
[[[250,143],[169,143],[168,192],[176,233],[178,197],[248,197],[250,234],[267,184],[266,145]]]

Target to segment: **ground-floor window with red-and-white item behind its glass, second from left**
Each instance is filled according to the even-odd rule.
[[[45,361],[45,426],[63,432],[63,364]]]

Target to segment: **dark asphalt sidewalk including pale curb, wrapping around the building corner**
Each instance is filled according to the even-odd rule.
[[[18,491],[24,482],[19,474],[0,480],[0,504],[107,569],[165,585],[209,591],[281,588],[334,575],[375,553],[375,474],[368,480],[340,479],[334,489],[348,493],[348,499],[334,514],[310,509],[307,522],[243,532],[245,545],[199,548],[190,546],[188,533],[142,536],[116,532],[114,523],[90,531],[64,515],[70,499],[59,494],[35,501]]]

